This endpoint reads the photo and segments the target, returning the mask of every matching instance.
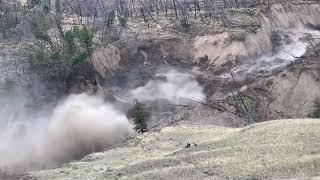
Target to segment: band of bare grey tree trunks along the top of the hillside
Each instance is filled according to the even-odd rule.
[[[182,0],[26,0],[9,1],[0,0],[0,36],[17,36],[24,31],[15,29],[22,19],[28,19],[41,7],[44,13],[55,11],[56,15],[78,20],[78,24],[92,23],[92,29],[101,37],[102,42],[118,40],[119,33],[127,28],[127,21],[143,21],[148,26],[159,19],[167,18],[179,24],[183,31],[190,31],[194,21],[201,21],[206,24],[220,20],[225,26],[230,26],[227,16],[232,8],[251,7],[270,4],[271,0],[256,2],[254,0],[215,0],[215,1],[182,1]],[[57,21],[59,22],[59,21]],[[61,21],[59,22],[61,23]],[[27,27],[28,29],[29,27]],[[7,32],[10,29],[10,32]],[[110,37],[111,36],[111,37]]]

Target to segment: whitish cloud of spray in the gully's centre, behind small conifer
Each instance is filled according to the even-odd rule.
[[[142,101],[153,101],[166,99],[173,103],[191,100],[204,100],[203,88],[188,73],[177,70],[170,70],[158,73],[157,76],[164,77],[165,80],[151,80],[145,86],[131,90],[132,97]]]

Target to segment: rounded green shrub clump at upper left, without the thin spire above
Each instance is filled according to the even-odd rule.
[[[45,25],[43,25],[45,26]],[[38,43],[28,49],[33,70],[49,79],[65,80],[74,66],[84,63],[93,52],[93,37],[86,26],[75,26],[52,42],[45,28],[35,32]]]

